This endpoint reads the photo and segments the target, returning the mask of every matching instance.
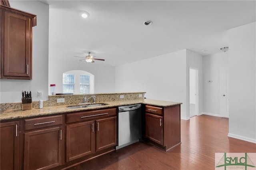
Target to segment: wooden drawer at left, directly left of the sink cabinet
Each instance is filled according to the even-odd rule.
[[[62,125],[62,115],[25,119],[24,121],[25,130],[52,127],[56,125]]]

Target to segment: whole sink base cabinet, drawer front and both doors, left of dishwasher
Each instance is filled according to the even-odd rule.
[[[116,108],[66,115],[66,162],[116,146]]]

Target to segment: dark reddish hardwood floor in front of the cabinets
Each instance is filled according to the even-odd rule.
[[[230,138],[228,119],[201,115],[181,120],[181,142],[168,152],[144,142],[68,170],[214,170],[215,153],[256,152],[256,144]]]

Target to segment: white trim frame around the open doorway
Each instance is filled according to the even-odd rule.
[[[198,116],[198,68],[196,68],[196,67],[189,67],[189,103],[188,103],[188,110],[189,110],[189,117],[191,117],[190,116],[190,69],[193,69],[193,70],[195,70],[195,86],[196,86],[196,88],[195,88],[195,93],[196,93],[196,95],[195,95],[195,115],[193,115],[193,116]],[[193,117],[192,116],[192,117]]]

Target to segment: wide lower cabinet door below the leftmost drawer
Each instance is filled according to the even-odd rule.
[[[46,170],[61,165],[62,128],[24,134],[24,170]]]

